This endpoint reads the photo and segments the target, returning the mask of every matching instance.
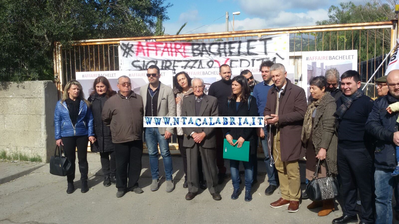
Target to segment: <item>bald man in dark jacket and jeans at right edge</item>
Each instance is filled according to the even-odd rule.
[[[392,70],[387,77],[389,92],[375,100],[373,110],[366,122],[366,130],[377,138],[375,149],[375,223],[392,223],[392,189],[399,177],[391,173],[397,164],[395,145],[399,145],[396,120],[398,113],[389,114],[389,104],[399,102],[399,70]]]

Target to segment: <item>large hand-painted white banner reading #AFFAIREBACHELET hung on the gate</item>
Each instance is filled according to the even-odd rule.
[[[230,65],[232,75],[249,69],[262,81],[259,65],[272,60],[288,65],[288,35],[217,42],[144,42],[120,41],[120,69],[145,71],[150,65],[176,74],[186,71],[190,77],[206,78],[205,83],[220,79],[220,65]]]

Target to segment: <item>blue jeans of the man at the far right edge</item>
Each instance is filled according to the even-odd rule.
[[[392,169],[375,168],[375,214],[376,224],[392,223],[392,193],[399,178],[392,177]]]

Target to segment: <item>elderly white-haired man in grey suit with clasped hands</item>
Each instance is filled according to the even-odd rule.
[[[184,99],[182,115],[186,116],[218,116],[217,98],[203,93],[205,85],[202,79],[195,78],[191,81],[194,95]],[[187,147],[187,176],[188,193],[186,200],[193,199],[198,192],[198,156],[201,153],[202,167],[208,190],[214,200],[221,200],[217,191],[217,169],[216,169],[216,137],[215,128],[184,127],[184,147]]]

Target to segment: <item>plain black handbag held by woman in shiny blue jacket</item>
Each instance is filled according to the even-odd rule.
[[[57,176],[65,177],[67,175],[73,174],[72,164],[69,162],[68,158],[62,156],[61,147],[57,146],[55,148],[54,156],[50,158],[50,173]],[[58,155],[57,155],[58,151]]]

